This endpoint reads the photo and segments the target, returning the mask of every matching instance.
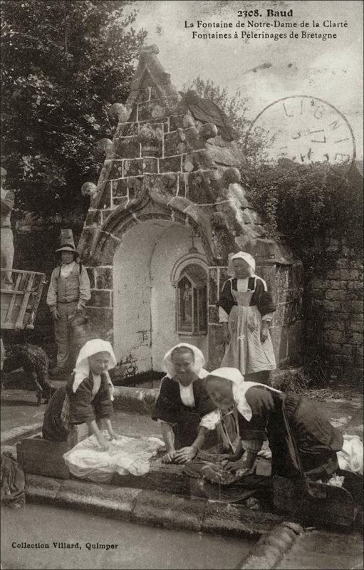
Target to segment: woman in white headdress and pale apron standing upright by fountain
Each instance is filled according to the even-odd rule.
[[[269,384],[276,368],[269,326],[276,310],[266,282],[255,274],[255,260],[246,252],[229,256],[217,306],[224,326],[222,366],[239,368],[246,380]]]

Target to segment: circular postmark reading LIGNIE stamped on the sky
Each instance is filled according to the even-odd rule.
[[[310,95],[291,95],[268,105],[248,133],[264,140],[268,159],[288,158],[300,164],[326,162],[349,172],[355,161],[355,138],[336,107]]]

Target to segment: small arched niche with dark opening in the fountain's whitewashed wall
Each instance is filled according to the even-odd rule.
[[[207,334],[207,274],[188,265],[177,281],[177,333]]]

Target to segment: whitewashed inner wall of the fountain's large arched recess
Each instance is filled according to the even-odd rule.
[[[202,241],[194,237],[193,245],[207,268]],[[114,350],[130,373],[161,371],[165,352],[180,342],[208,356],[207,331],[177,331],[173,269],[191,247],[191,227],[170,219],[140,222],[123,234],[113,259]]]

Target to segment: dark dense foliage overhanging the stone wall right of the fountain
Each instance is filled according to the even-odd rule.
[[[271,234],[284,234],[308,274],[330,266],[332,239],[362,248],[363,189],[360,177],[343,167],[281,159],[250,165],[241,178]]]

